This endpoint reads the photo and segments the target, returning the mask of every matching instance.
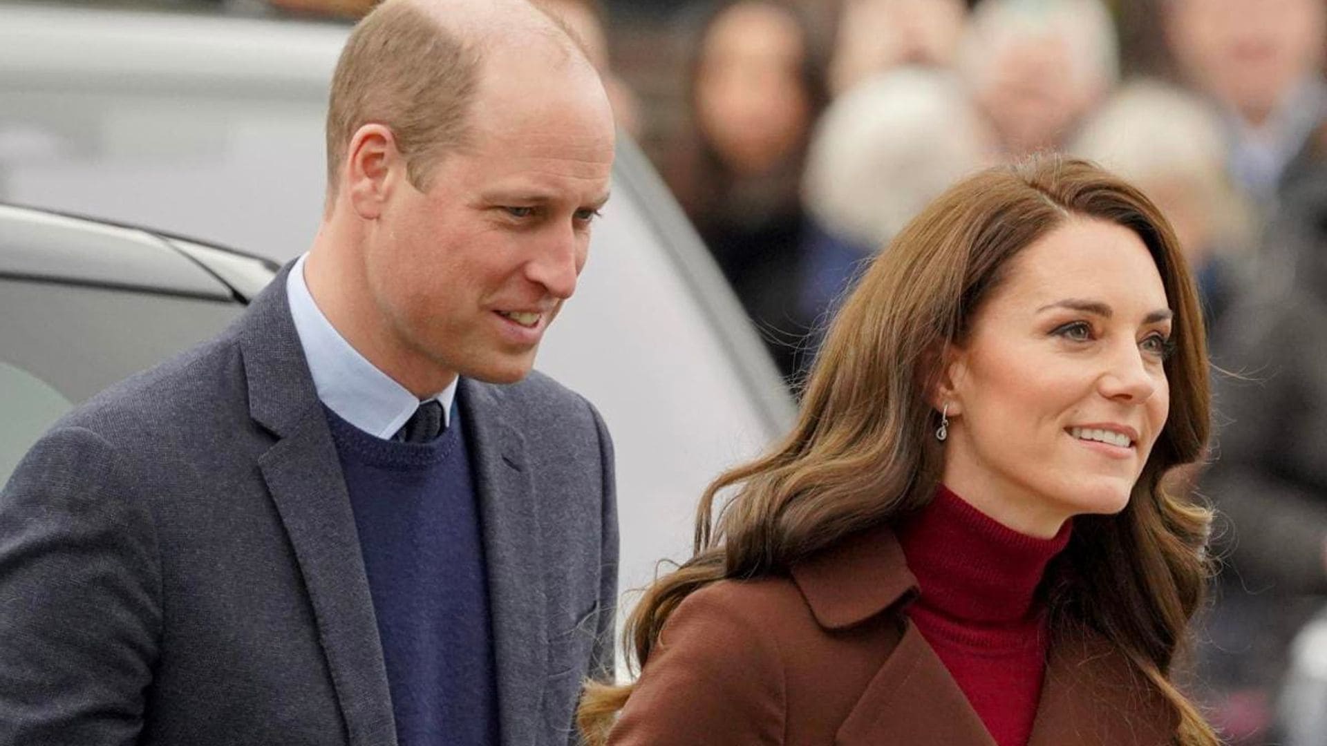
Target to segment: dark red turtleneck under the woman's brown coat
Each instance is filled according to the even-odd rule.
[[[1070,540],[1001,526],[941,486],[898,530],[921,595],[908,615],[999,746],[1024,746],[1046,670],[1046,617],[1035,604],[1047,563]]]

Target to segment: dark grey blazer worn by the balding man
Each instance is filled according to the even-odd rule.
[[[288,271],[288,269],[287,269]],[[613,668],[613,453],[541,374],[462,378],[504,745]],[[395,743],[354,519],[285,271],[76,409],[0,492],[0,745]]]

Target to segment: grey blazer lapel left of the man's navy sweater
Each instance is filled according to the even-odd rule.
[[[289,265],[253,301],[240,350],[249,411],[276,435],[257,459],[313,607],[350,746],[394,746],[373,599],[341,477],[285,299]]]

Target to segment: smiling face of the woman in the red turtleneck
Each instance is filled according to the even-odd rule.
[[[1170,327],[1128,228],[1071,218],[1019,252],[949,350],[945,485],[1034,536],[1123,510],[1169,410]]]

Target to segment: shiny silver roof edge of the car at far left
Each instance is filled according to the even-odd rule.
[[[276,268],[207,242],[0,203],[0,277],[247,303]]]

